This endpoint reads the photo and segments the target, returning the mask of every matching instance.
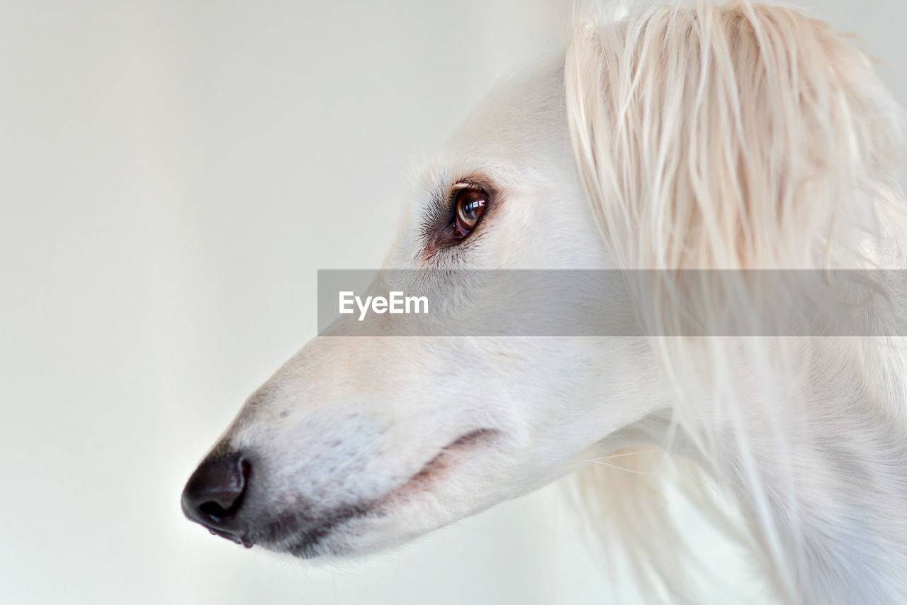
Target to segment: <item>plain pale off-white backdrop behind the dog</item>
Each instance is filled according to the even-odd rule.
[[[0,602],[609,602],[556,487],[329,568],[215,539],[179,506],[314,335],[316,270],[380,263],[410,160],[559,44],[570,11],[0,2]],[[907,64],[907,3],[810,13]],[[903,67],[882,71],[907,100]]]

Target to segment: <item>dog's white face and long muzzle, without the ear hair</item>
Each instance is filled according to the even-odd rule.
[[[493,94],[416,183],[385,265],[424,270],[432,301],[469,288],[444,270],[609,266],[573,164],[560,64]],[[467,311],[500,295],[469,293]],[[655,407],[640,354],[581,338],[318,336],[249,398],[184,510],[302,557],[405,541],[613,449],[602,439]],[[590,414],[617,397],[613,413]]]

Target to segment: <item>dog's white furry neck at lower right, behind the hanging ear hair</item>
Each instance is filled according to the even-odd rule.
[[[785,601],[907,602],[907,435],[888,401],[902,382],[881,365],[860,377],[826,370],[784,426],[748,419],[745,449],[727,427],[701,466],[736,497]]]

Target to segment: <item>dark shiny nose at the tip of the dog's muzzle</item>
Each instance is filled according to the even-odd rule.
[[[203,461],[182,491],[182,511],[213,534],[251,547],[239,515],[252,465],[239,453]]]

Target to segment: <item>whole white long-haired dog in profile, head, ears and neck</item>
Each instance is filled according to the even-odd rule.
[[[725,272],[676,281],[903,266],[900,116],[863,52],[785,8],[580,19],[557,64],[424,165],[385,266],[443,270],[421,279],[448,301],[449,270],[656,269],[631,273],[625,321],[643,335],[319,336],[249,398],[184,511],[247,546],[346,556],[580,470],[649,591],[695,602],[669,476],[707,515],[727,511],[712,485],[733,503],[779,599],[907,602],[902,341],[719,337],[775,292]],[[815,281],[785,321],[835,321],[844,303]],[[504,295],[456,287],[473,315]],[[860,311],[876,327],[907,300],[881,294]],[[678,299],[708,310],[705,332],[674,335]],[[587,464],[615,452],[644,472]]]

